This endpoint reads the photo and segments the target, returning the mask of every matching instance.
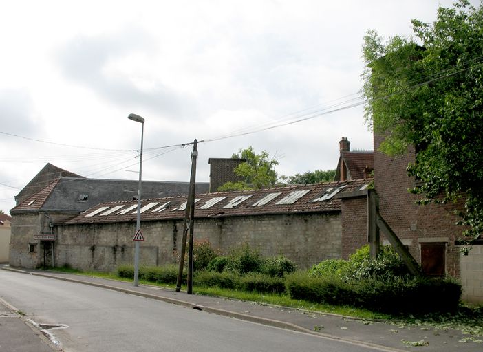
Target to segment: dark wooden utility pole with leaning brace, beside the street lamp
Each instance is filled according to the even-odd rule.
[[[180,267],[178,268],[178,278],[176,281],[176,292],[181,291],[181,282],[183,277],[184,254],[186,254],[186,240],[188,231],[189,254],[188,254],[188,294],[193,293],[193,225],[195,222],[195,179],[196,179],[196,159],[198,156],[197,143],[193,142],[193,153],[191,153],[191,176],[189,180],[188,198],[186,199],[186,212],[184,213],[183,238],[181,241]]]

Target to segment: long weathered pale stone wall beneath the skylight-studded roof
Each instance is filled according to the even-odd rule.
[[[183,221],[141,223],[140,263],[176,263]],[[299,267],[324,259],[341,258],[341,215],[284,214],[253,217],[197,219],[195,240],[208,239],[213,248],[228,253],[248,243],[264,256],[284,254]],[[113,271],[133,263],[135,223],[59,225],[56,228],[56,265],[83,270]]]

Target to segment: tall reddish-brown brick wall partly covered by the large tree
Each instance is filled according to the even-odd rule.
[[[419,263],[420,242],[446,243],[446,272],[459,276],[460,254],[455,239],[463,229],[456,225],[459,218],[455,210],[460,204],[417,205],[418,196],[408,192],[414,187],[414,178],[408,177],[406,170],[414,162],[414,148],[402,157],[388,157],[378,151],[382,141],[382,137],[374,135],[374,186],[380,198],[380,214]]]

